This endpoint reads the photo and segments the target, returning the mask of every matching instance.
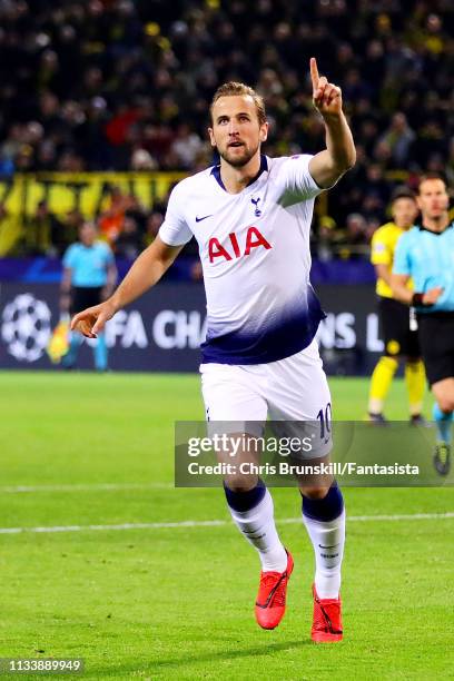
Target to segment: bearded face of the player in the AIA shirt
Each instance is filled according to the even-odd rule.
[[[208,128],[213,147],[234,166],[246,166],[257,154],[268,134],[268,124],[259,124],[254,99],[249,95],[219,97],[213,107],[213,128]]]

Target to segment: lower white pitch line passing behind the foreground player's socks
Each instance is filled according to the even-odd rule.
[[[392,522],[392,521],[415,521],[415,520],[446,520],[454,517],[454,512],[447,513],[414,513],[396,515],[347,515],[348,522]],[[285,517],[277,524],[292,525],[300,523],[300,517]],[[230,525],[231,521],[181,521],[175,523],[122,523],[120,525],[56,525],[49,527],[0,527],[0,534],[50,534],[56,532],[87,532],[87,531],[109,531],[109,530],[161,530],[166,527],[219,527]]]

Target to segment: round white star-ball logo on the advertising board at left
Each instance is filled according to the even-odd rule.
[[[49,343],[51,312],[43,300],[21,294],[9,303],[2,315],[1,337],[18,362],[36,362]]]

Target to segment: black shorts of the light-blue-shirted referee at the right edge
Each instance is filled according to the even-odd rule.
[[[421,353],[430,385],[454,377],[454,312],[417,315]]]

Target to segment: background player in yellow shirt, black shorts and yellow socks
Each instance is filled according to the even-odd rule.
[[[391,289],[394,251],[401,236],[417,216],[416,198],[411,189],[398,188],[391,204],[393,221],[379,227],[372,238],[371,261],[377,274],[376,293],[384,336],[385,354],[372,374],[368,415],[372,422],[386,422],[383,407],[398,362],[405,358],[405,382],[408,392],[411,423],[425,423],[421,415],[425,386],[424,364],[420,357],[414,310],[396,300]]]

